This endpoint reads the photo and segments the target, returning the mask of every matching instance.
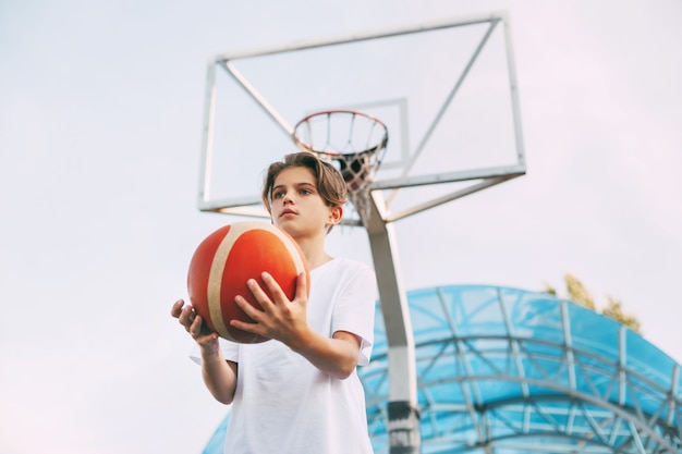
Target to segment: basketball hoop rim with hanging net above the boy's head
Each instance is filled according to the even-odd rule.
[[[365,222],[369,214],[369,187],[388,144],[386,125],[365,113],[328,110],[301,120],[292,136],[301,150],[339,163],[349,198]]]

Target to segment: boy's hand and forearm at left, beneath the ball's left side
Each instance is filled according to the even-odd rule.
[[[171,316],[178,319],[199,346],[204,383],[218,402],[231,404],[236,389],[238,365],[224,359],[220,352],[218,334],[209,332],[203,326],[202,317],[194,308],[183,306],[184,302],[178,300],[171,309]]]

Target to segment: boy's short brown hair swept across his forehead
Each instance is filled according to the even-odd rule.
[[[330,162],[322,161],[317,155],[309,151],[293,152],[284,156],[282,161],[272,162],[263,183],[263,204],[271,212],[272,186],[277,175],[285,169],[303,167],[315,175],[317,191],[329,207],[343,205],[348,200],[348,186],[341,172]]]

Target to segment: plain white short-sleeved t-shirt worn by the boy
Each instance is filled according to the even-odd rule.
[[[310,271],[308,324],[331,338],[362,338],[358,365],[374,342],[376,280],[366,265],[333,259]],[[278,341],[236,344],[221,340],[239,364],[226,454],[370,454],[365,393],[353,373],[330,377]]]

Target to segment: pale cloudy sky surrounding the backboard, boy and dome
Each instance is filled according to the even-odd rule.
[[[196,206],[209,56],[497,10],[527,174],[398,222],[405,287],[570,272],[682,361],[679,1],[0,0],[0,454],[199,453],[224,417],[169,315],[235,220]]]

